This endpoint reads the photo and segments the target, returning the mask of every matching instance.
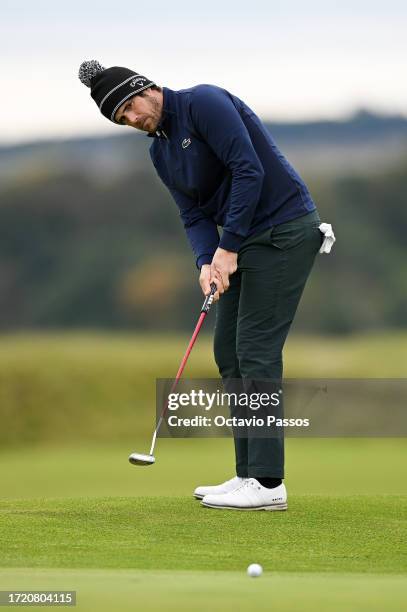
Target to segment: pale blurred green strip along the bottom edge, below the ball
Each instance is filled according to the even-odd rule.
[[[261,578],[238,571],[0,569],[1,589],[76,590],[75,609],[279,610],[393,612],[402,610],[407,579],[377,574],[283,574],[265,567]],[[5,607],[4,610],[15,610]],[[66,608],[64,608],[66,609]]]

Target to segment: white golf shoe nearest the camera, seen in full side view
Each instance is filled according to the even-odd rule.
[[[287,490],[281,483],[274,489],[263,487],[255,478],[245,478],[229,493],[205,495],[201,504],[223,510],[287,510]]]

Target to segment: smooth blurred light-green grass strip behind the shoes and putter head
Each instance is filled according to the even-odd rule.
[[[154,466],[131,466],[128,455],[148,452],[150,436],[3,450],[0,497],[189,496],[233,475],[231,439],[159,439]],[[286,484],[294,495],[407,495],[406,452],[404,438],[288,438]]]

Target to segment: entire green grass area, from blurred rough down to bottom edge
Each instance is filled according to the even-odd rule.
[[[192,499],[233,474],[231,439],[159,439],[155,466],[130,466],[149,448],[155,378],[187,342],[0,337],[0,589],[76,589],[86,612],[403,609],[405,439],[288,438],[281,513]],[[186,376],[217,377],[211,344],[200,336]],[[401,333],[285,350],[286,377],[405,377],[406,363]]]

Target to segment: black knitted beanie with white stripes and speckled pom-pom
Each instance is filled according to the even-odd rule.
[[[155,85],[134,70],[121,66],[104,68],[96,60],[82,62],[78,76],[84,85],[90,87],[90,95],[102,115],[116,124],[114,116],[123,102]]]

